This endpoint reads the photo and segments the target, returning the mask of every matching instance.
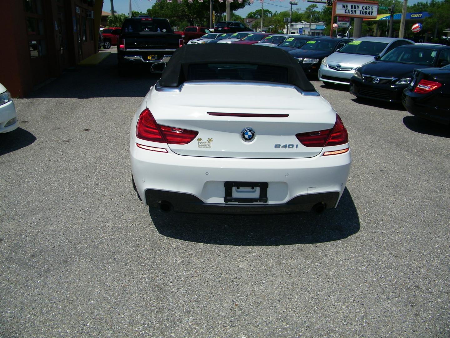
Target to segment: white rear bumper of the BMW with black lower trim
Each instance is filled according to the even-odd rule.
[[[161,144],[159,144],[161,146]],[[337,146],[340,149],[348,147]],[[327,147],[326,151],[338,150]],[[350,151],[300,159],[246,159],[176,155],[130,142],[131,169],[144,204],[168,201],[175,211],[285,213],[337,206],[350,172]],[[225,203],[225,182],[267,182],[267,202]]]

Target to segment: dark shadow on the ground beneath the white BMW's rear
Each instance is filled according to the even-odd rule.
[[[337,209],[321,214],[197,215],[150,208],[157,231],[183,241],[234,246],[278,246],[338,241],[360,230],[347,188]]]

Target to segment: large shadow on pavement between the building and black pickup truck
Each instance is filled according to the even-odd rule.
[[[144,97],[160,77],[149,67],[135,67],[127,76],[119,76],[117,54],[113,53],[98,65],[68,69],[27,98]]]

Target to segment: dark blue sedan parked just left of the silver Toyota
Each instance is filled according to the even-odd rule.
[[[337,37],[315,37],[306,41],[299,49],[291,50],[289,54],[298,59],[306,75],[317,74],[322,60],[350,41],[352,40]]]

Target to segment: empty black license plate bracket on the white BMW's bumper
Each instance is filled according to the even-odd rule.
[[[269,183],[267,182],[225,182],[225,197],[224,202],[238,202],[238,203],[267,203],[267,188],[269,187]],[[249,192],[249,197],[240,197],[233,194],[233,191],[236,192],[243,187],[244,192]],[[259,189],[257,189],[259,188]],[[259,190],[259,196],[255,196],[252,194],[252,191],[257,192]],[[234,196],[233,196],[234,195]]]

